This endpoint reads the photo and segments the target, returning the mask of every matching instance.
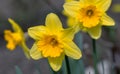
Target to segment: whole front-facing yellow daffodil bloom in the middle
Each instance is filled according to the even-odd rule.
[[[74,30],[63,29],[57,15],[50,13],[46,17],[45,26],[36,26],[28,29],[28,34],[36,41],[30,50],[34,60],[47,58],[54,71],[62,66],[64,56],[80,59],[80,49],[72,41]]]

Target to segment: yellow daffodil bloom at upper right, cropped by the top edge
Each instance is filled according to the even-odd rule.
[[[101,36],[101,26],[114,26],[114,21],[106,11],[111,0],[80,0],[64,4],[65,11],[75,18],[80,30],[86,31],[94,39]],[[78,28],[77,28],[78,29]]]

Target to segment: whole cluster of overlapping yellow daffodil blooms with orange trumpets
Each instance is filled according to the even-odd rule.
[[[66,0],[63,13],[68,17],[69,28],[64,29],[59,17],[50,13],[47,15],[45,25],[30,27],[28,34],[35,40],[29,50],[25,44],[24,33],[17,23],[8,19],[14,32],[5,30],[7,48],[14,50],[21,46],[25,55],[38,60],[47,58],[51,68],[58,71],[65,56],[80,59],[80,48],[73,42],[78,31],[88,32],[93,39],[99,39],[102,26],[114,26],[114,21],[106,13],[111,0]]]

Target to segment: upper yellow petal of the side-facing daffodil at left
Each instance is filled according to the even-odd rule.
[[[24,34],[23,31],[22,31],[22,29],[20,28],[20,26],[14,20],[12,20],[11,18],[9,18],[8,21],[12,25],[12,28],[13,28],[13,30],[15,32],[19,32],[19,33],[21,33],[21,35]]]

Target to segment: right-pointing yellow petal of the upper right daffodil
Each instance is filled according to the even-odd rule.
[[[109,17],[107,14],[104,14],[104,16],[102,16],[101,21],[102,21],[102,25],[104,25],[104,26],[114,26],[115,25],[114,20],[111,17]]]

